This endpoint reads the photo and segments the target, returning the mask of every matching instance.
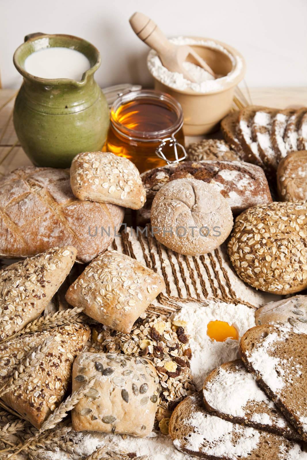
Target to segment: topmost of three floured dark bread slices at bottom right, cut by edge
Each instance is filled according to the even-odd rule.
[[[306,334],[273,325],[249,329],[240,342],[240,353],[245,366],[305,440],[306,345]]]

